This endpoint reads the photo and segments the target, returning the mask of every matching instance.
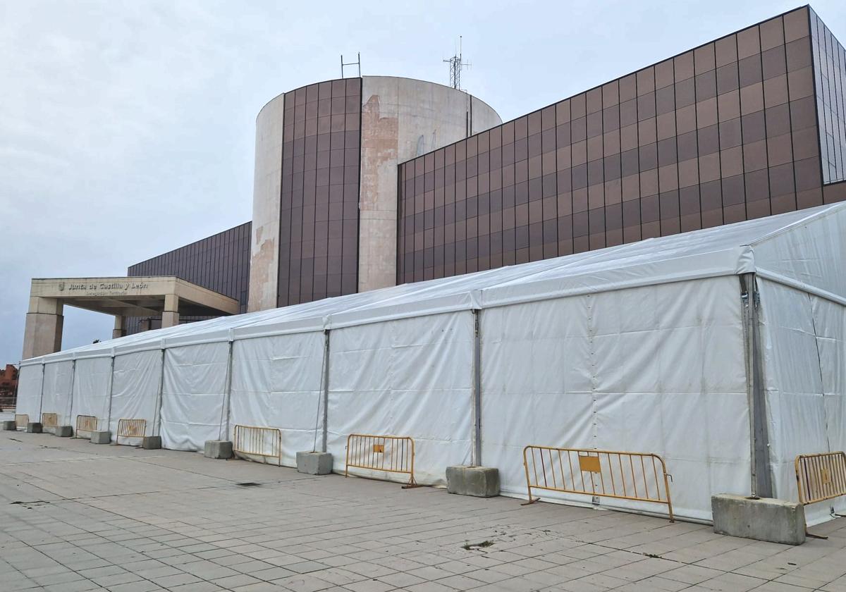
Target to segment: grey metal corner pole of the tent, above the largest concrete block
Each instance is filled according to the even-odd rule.
[[[761,332],[758,318],[758,291],[755,274],[740,276],[744,317],[744,354],[746,359],[746,394],[750,424],[751,495],[772,497],[769,436],[766,430],[766,392],[763,381]]]

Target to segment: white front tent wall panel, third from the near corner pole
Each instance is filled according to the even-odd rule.
[[[284,466],[296,466],[297,452],[313,450],[315,441],[320,447],[324,341],[323,332],[307,332],[233,343],[230,439],[235,425],[278,428]]]

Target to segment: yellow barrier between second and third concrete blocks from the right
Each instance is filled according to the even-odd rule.
[[[419,486],[415,481],[415,441],[409,436],[350,434],[345,477],[349,477],[350,467],[408,474],[409,482],[403,489]]]

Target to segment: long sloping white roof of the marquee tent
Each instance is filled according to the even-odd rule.
[[[756,266],[755,261],[755,246],[775,240],[791,228],[833,215],[844,208],[846,204],[818,206],[555,259],[403,284],[280,309],[218,317],[26,359],[21,365],[317,332],[458,310],[486,309],[748,272],[756,272],[773,282],[846,304],[846,294],[832,293],[784,277]]]

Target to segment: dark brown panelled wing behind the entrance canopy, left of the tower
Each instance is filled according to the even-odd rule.
[[[238,300],[239,312],[247,311],[250,288],[250,231],[252,223],[212,234],[195,243],[186,244],[129,266],[126,275],[176,276]],[[200,321],[207,317],[184,317],[182,322]],[[125,321],[127,335],[140,331],[139,317]],[[151,328],[161,326],[160,317],[151,317]]]

